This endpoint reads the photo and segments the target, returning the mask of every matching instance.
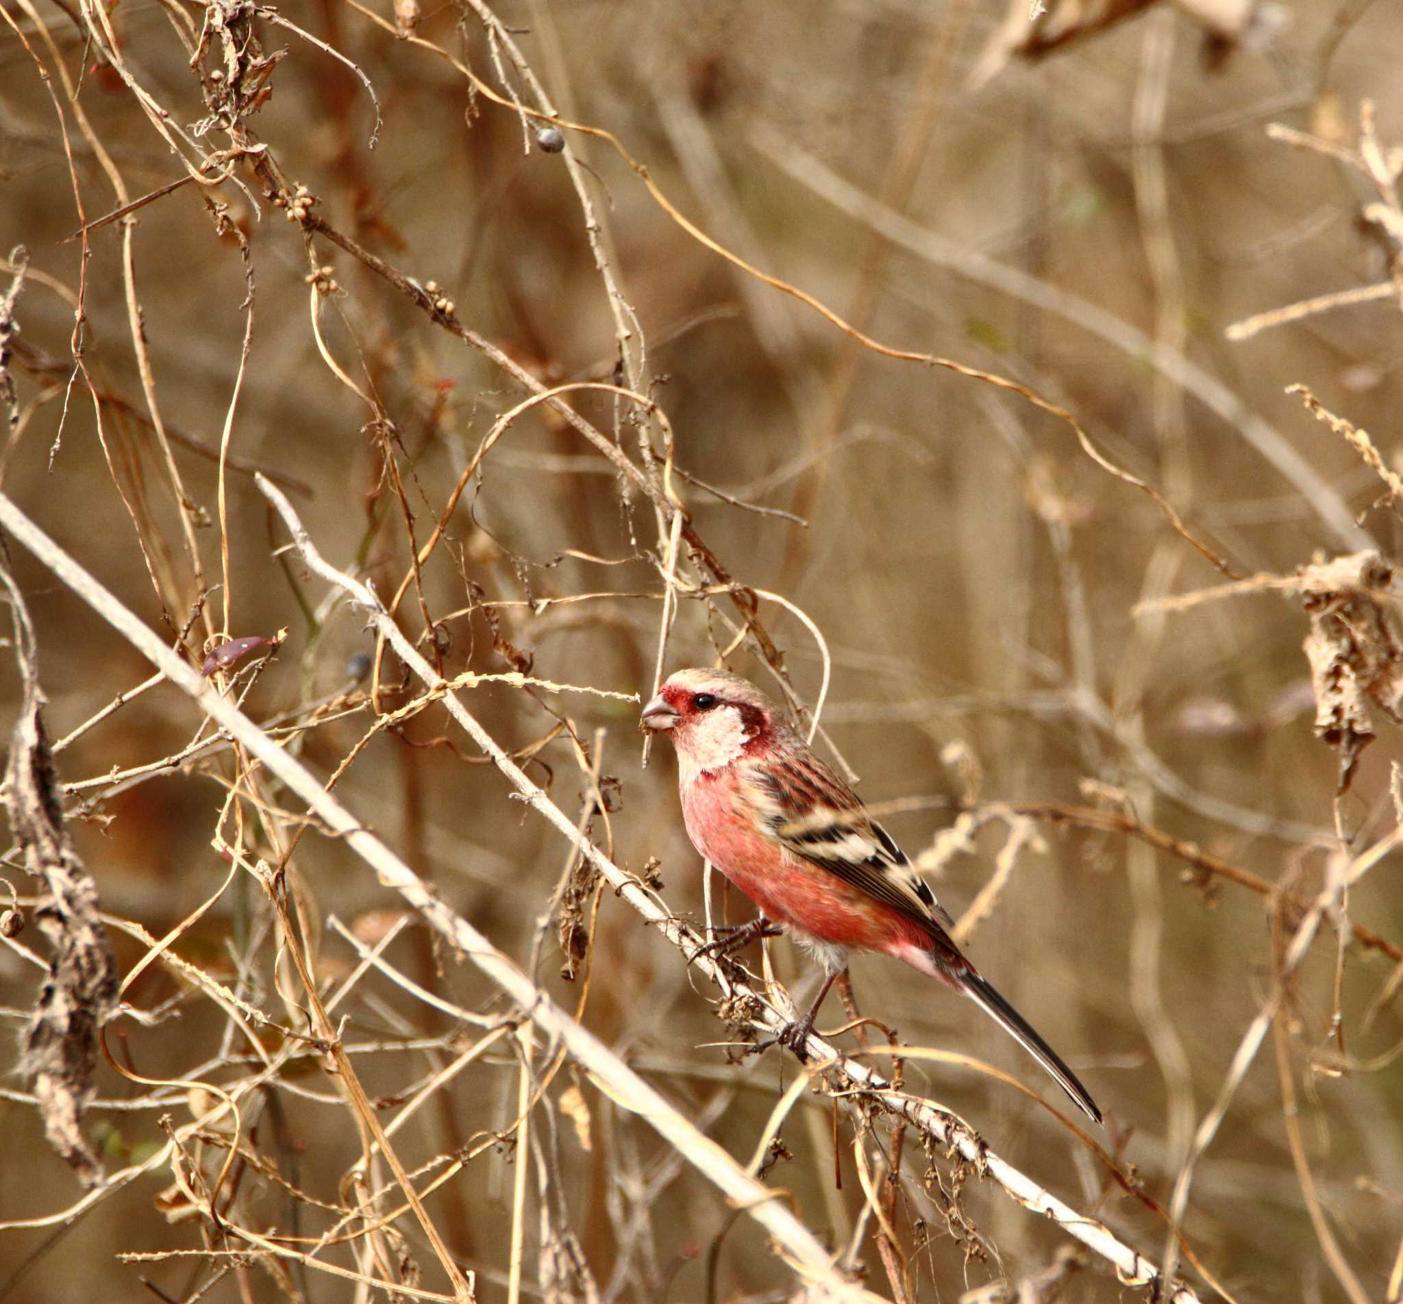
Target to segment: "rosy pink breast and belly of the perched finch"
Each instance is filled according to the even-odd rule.
[[[682,788],[682,815],[693,845],[767,918],[908,963],[904,952],[929,949],[930,939],[913,921],[766,837],[737,803],[734,785],[728,771],[699,775]]]

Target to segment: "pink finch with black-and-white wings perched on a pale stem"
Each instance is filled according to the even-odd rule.
[[[760,909],[713,949],[784,932],[824,966],[818,1000],[779,1040],[803,1054],[849,949],[881,951],[971,997],[1101,1122],[1076,1074],[960,953],[901,848],[759,688],[727,670],[678,670],[641,724],[678,749],[692,844]]]

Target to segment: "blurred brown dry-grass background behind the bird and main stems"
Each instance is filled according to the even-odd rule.
[[[725,652],[779,691],[773,639],[769,660],[810,707],[831,672],[831,746],[890,803],[951,911],[979,897],[972,953],[1106,1108],[1097,1140],[1120,1179],[968,1066],[911,1060],[906,1089],[1155,1263],[1166,1218],[1128,1188],[1169,1209],[1179,1181],[1187,1251],[1170,1252],[1201,1298],[1397,1300],[1403,590],[1388,558],[1403,495],[1388,475],[1403,11],[1291,0],[1270,39],[1226,48],[1201,14],[1157,6],[988,67],[1007,17],[993,0],[410,10],[414,36],[397,39],[396,13],[354,0],[3,0],[0,247],[24,247],[0,278],[0,328],[22,327],[3,494],[196,667],[224,637],[286,628],[271,660],[260,648],[212,683],[283,728],[321,780],[365,740],[335,787],[355,820],[741,1164],[783,1098],[765,1181],[875,1296],[1150,1291],[1073,1252],[978,1164],[915,1129],[897,1141],[873,1101],[839,1109],[822,1084],[784,1096],[800,1068],[774,1052],[732,1064],[714,1045],[735,1036],[714,983],[511,799],[442,704],[375,728],[366,614],[289,552],[251,474],[278,480],[321,554],[389,599],[484,436],[528,397],[523,376],[644,395],[655,407],[560,400],[634,480],[549,404],[499,428],[398,607],[408,638],[448,677],[648,694],[671,590],[668,667]],[[258,69],[260,49],[285,55]],[[992,76],[975,86],[976,69]],[[564,153],[540,149],[553,114],[613,133],[655,189],[609,137],[565,126]],[[222,182],[188,179],[206,160]],[[864,348],[678,213],[882,345],[1010,377],[1044,407]],[[1352,425],[1316,421],[1294,383]],[[1160,602],[1225,575],[1045,404],[1256,579]],[[1383,561],[1270,579],[1362,548]],[[65,739],[152,667],[27,548],[11,541],[6,565],[35,627],[49,738]],[[746,597],[727,596],[720,568],[774,595],[760,638],[741,637]],[[4,674],[22,722],[18,669]],[[380,711],[418,691],[389,652]],[[509,683],[460,697],[617,865],[700,925],[672,757],[641,767],[637,705]],[[1338,795],[1317,709],[1341,746],[1371,716],[1378,732]],[[125,1175],[112,1185],[83,1186],[55,1155],[27,1075],[0,1085],[0,1297],[366,1297],[239,1231],[310,1249],[333,1225],[351,1240],[318,1259],[452,1293],[424,1223],[379,1223],[400,1209],[394,1178],[379,1157],[363,1167],[365,1112],[325,1047],[299,1050],[293,1033],[316,1024],[297,960],[324,997],[341,991],[333,1021],[376,1116],[417,1106],[394,1137],[415,1185],[462,1161],[425,1216],[477,1298],[794,1296],[766,1231],[575,1054],[522,1032],[522,1007],[442,937],[401,921],[354,838],[303,831],[303,802],[247,749],[157,764],[209,736],[202,721],[161,681],[55,757],[118,974],[147,956],[122,993],[142,1018],[109,1021],[83,1120],[108,1181]],[[32,903],[18,847],[6,865]],[[717,916],[745,917],[720,888]],[[31,927],[0,949],[15,1036],[51,951],[24,909]],[[386,942],[386,967],[356,969],[347,934]],[[812,973],[784,942],[770,955],[803,997]],[[1044,1091],[972,1007],[885,960],[857,960],[853,983],[908,1043]],[[255,1029],[253,1010],[271,1022]],[[839,1022],[835,1000],[821,1025]],[[1244,1039],[1260,1049],[1235,1066]],[[850,1032],[836,1043],[856,1049]],[[195,1125],[260,1057],[276,1063],[241,1096],[224,1168],[227,1116]],[[18,1068],[13,1052],[3,1063]]]

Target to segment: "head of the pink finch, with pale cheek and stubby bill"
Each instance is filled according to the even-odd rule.
[[[678,670],[643,708],[644,729],[666,732],[687,773],[720,770],[760,746],[781,724],[772,702],[730,670]]]

